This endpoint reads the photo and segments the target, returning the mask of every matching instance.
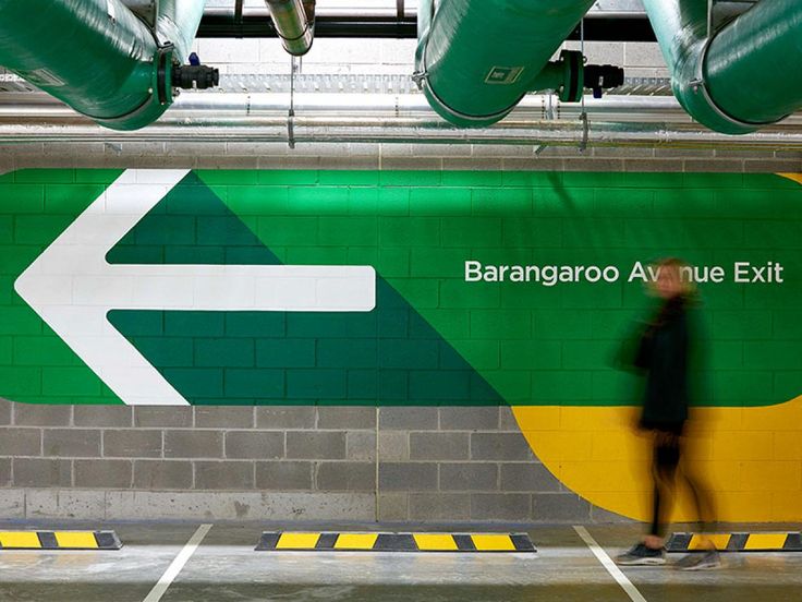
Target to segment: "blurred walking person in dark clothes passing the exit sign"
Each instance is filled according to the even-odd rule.
[[[664,537],[678,475],[689,487],[703,532],[715,516],[709,493],[700,486],[683,454],[683,434],[694,389],[691,372],[696,368],[692,362],[698,344],[689,315],[695,297],[690,266],[677,258],[660,261],[653,288],[660,300],[659,308],[643,328],[634,358],[629,360],[645,376],[637,426],[652,442],[652,523],[641,542],[616,558],[617,564],[624,566],[666,563]],[[677,568],[700,570],[720,566],[715,546],[709,540],[704,541],[705,551],[681,558]]]

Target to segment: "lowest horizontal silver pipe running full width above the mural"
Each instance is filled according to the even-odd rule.
[[[250,119],[227,125],[187,128],[158,122],[146,131],[111,132],[92,124],[81,125],[2,125],[0,143],[15,142],[251,142],[288,143],[287,122],[282,119]],[[303,143],[416,143],[416,144],[508,144],[538,146],[616,146],[729,149],[799,149],[802,132],[758,132],[736,140],[726,134],[694,127],[660,123],[621,124],[596,122],[585,128],[581,121],[543,121],[508,123],[493,128],[430,128],[415,120],[387,121],[363,118],[295,118],[293,144]]]

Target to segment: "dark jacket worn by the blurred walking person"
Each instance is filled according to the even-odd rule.
[[[688,419],[690,339],[685,302],[673,298],[647,325],[635,357],[646,375],[642,428],[679,431]]]

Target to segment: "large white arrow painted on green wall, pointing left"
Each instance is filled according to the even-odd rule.
[[[187,400],[107,320],[110,310],[369,312],[372,266],[111,265],[106,254],[189,170],[130,169],[14,282],[125,404]]]

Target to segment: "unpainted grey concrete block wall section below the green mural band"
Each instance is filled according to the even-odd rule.
[[[533,456],[509,408],[0,401],[5,518],[607,520]]]

